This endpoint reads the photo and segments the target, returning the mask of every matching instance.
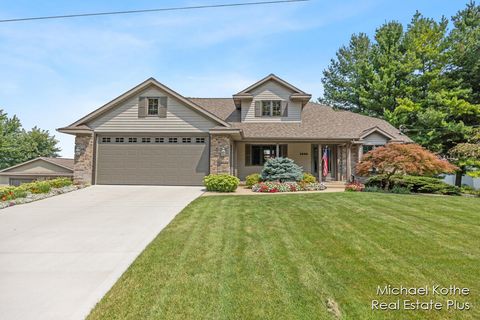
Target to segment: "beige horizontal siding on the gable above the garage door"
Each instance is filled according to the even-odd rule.
[[[208,132],[217,124],[192,110],[172,96],[168,96],[167,117],[138,117],[139,97],[168,96],[158,88],[150,87],[109,112],[88,123],[96,132]]]

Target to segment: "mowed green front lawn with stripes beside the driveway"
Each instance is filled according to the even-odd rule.
[[[191,203],[89,319],[480,319],[480,199],[374,193]],[[470,288],[470,311],[371,311],[377,285]],[[394,301],[398,297],[380,297]],[[411,297],[416,299],[415,297]],[[445,303],[448,297],[419,297]],[[331,308],[330,308],[331,309]]]

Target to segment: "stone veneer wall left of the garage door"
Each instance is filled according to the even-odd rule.
[[[91,184],[93,176],[93,134],[75,136],[75,162],[73,181],[79,184]]]

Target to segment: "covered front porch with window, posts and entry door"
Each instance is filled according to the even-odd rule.
[[[241,180],[249,174],[260,173],[268,158],[280,156],[292,159],[319,181],[334,183],[349,181],[355,174],[362,145],[345,141],[234,141],[232,151],[232,173]]]

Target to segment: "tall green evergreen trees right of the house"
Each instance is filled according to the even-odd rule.
[[[479,13],[471,2],[452,18],[450,33],[446,18],[435,21],[417,12],[405,31],[388,22],[374,41],[352,36],[324,71],[320,100],[384,118],[446,154],[480,123]]]

